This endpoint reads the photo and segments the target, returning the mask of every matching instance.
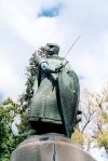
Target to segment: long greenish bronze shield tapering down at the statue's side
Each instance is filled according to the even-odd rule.
[[[66,135],[71,136],[79,106],[79,79],[75,71],[63,70],[58,75],[60,108]]]

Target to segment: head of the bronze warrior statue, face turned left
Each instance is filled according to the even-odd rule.
[[[55,43],[46,43],[45,50],[48,55],[58,55],[59,46]]]

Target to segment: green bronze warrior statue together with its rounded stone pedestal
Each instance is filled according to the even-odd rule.
[[[81,115],[78,77],[69,62],[58,56],[57,44],[48,43],[41,50],[39,55],[46,57],[40,59],[37,54],[39,70],[29,111],[31,130],[23,136],[37,135],[22,142],[12,152],[11,161],[96,161],[67,138]]]

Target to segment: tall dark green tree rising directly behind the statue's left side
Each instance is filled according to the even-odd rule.
[[[29,123],[28,123],[28,111],[30,108],[30,103],[32,98],[32,86],[35,82],[35,78],[38,71],[39,62],[37,59],[36,53],[32,54],[32,56],[29,59],[29,67],[26,67],[26,90],[25,92],[19,96],[19,104],[21,104],[21,123],[17,124],[18,133],[23,134],[29,130]]]

